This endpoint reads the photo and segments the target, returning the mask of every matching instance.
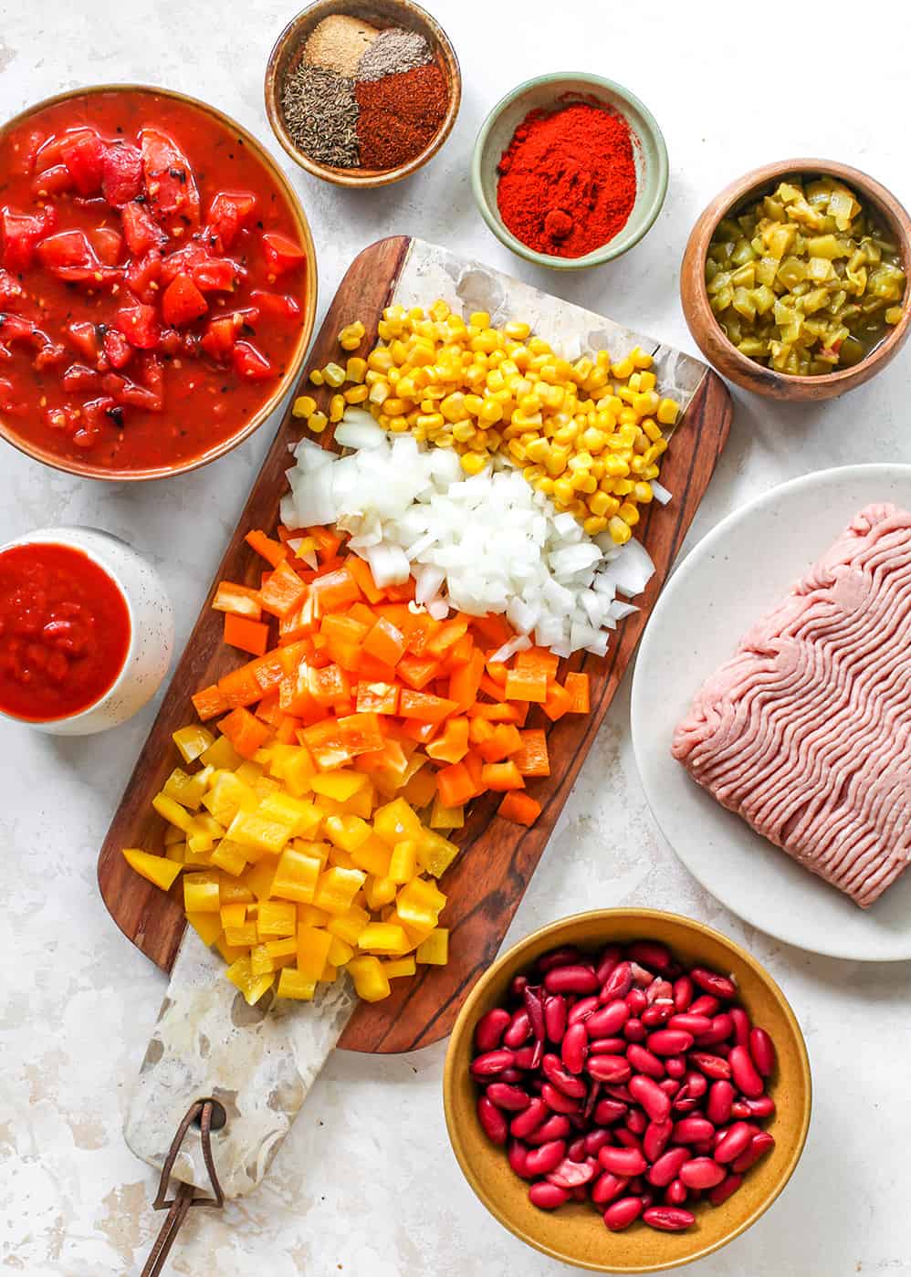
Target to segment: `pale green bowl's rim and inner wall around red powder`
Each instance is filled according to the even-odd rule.
[[[624,226],[612,240],[608,240],[607,244],[602,244],[601,248],[592,249],[590,253],[585,253],[583,257],[556,257],[549,253],[538,253],[535,249],[529,248],[528,244],[523,244],[523,241],[517,239],[517,236],[515,236],[505,222],[493,212],[484,194],[482,183],[480,161],[484,147],[487,146],[487,139],[493,125],[497,123],[502,112],[530,89],[538,88],[540,84],[560,83],[565,83],[567,86],[579,83],[592,84],[595,88],[607,89],[609,93],[615,93],[621,102],[625,102],[640,114],[645,121],[647,132],[650,135],[652,143],[658,152],[655,193],[652,200],[645,206],[636,231],[624,240],[624,232],[626,231],[626,226]],[[571,89],[567,87],[566,92],[571,92]],[[487,226],[493,231],[501,244],[505,244],[506,248],[511,249],[519,257],[524,257],[526,262],[532,262],[535,266],[544,266],[556,271],[581,271],[589,266],[604,266],[607,262],[612,262],[615,258],[622,257],[624,253],[635,248],[635,245],[644,239],[648,231],[652,230],[658,213],[664,204],[670,170],[664,134],[661,132],[658,121],[641,98],[636,97],[636,94],[624,84],[617,83],[617,80],[608,79],[606,75],[595,75],[590,72],[549,72],[547,75],[533,75],[532,79],[523,80],[521,84],[510,89],[509,93],[505,93],[503,97],[501,97],[500,101],[491,107],[474,142],[470,171],[471,190],[474,192],[474,199],[478,204],[480,216],[484,218]]]

